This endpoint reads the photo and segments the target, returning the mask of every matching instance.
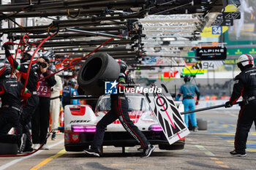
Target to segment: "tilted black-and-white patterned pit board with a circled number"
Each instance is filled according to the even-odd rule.
[[[179,139],[189,134],[189,129],[184,123],[181,114],[174,104],[172,96],[164,84],[151,83],[151,86],[162,88],[162,93],[145,93],[148,104],[154,112],[159,125],[162,127],[169,144],[173,144]]]

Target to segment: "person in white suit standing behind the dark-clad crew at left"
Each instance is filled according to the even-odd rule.
[[[51,72],[56,72],[56,67],[53,65],[50,65],[48,69]],[[58,75],[54,75],[56,80],[56,85],[54,85],[51,88],[51,96],[50,96],[50,112],[51,112],[51,128],[58,128],[59,127],[59,110],[61,107],[61,98],[60,98],[60,92],[62,90],[62,81],[61,77]],[[56,131],[53,131],[53,134],[51,136],[52,140],[56,140]]]

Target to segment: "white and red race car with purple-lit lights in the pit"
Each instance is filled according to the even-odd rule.
[[[127,93],[129,117],[146,135],[151,144],[158,144],[160,150],[182,150],[185,138],[169,144],[157,119],[154,117],[146,98],[140,93]],[[179,112],[184,112],[181,101],[175,101]],[[64,146],[67,151],[83,151],[89,148],[96,125],[110,110],[110,95],[103,95],[97,101],[95,112],[89,105],[67,105],[64,109]],[[182,116],[184,118],[184,116]],[[105,130],[103,146],[134,147],[138,142],[124,130],[119,120]]]

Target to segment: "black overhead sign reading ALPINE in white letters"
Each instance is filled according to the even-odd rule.
[[[226,47],[198,47],[195,53],[197,57],[200,57],[200,60],[205,61],[225,60],[227,58]]]

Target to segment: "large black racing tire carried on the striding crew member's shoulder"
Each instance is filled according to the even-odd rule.
[[[95,53],[86,60],[78,72],[78,85],[85,95],[101,96],[105,81],[118,79],[119,64],[107,53]]]

